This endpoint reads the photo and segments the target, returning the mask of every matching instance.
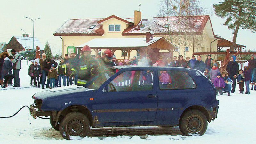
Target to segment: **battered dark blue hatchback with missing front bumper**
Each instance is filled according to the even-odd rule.
[[[198,70],[116,66],[84,86],[38,92],[34,118],[49,116],[63,138],[85,137],[90,127],[178,126],[184,135],[203,135],[217,118],[219,100]]]

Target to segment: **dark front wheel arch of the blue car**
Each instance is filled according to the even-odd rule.
[[[87,118],[89,119],[89,122],[90,122],[90,126],[92,126],[92,124],[93,124],[92,113],[91,113],[90,109],[84,105],[70,105],[70,106],[64,108],[63,110],[61,110],[57,113],[57,120],[59,122],[61,122],[61,119],[64,118],[64,116],[66,116],[68,113],[73,112],[73,111],[80,112],[80,113],[84,114],[85,116],[87,116]]]

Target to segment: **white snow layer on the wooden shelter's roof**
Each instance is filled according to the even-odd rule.
[[[146,47],[162,37],[154,37],[146,43],[146,38],[94,38],[77,47],[88,45],[90,47]]]

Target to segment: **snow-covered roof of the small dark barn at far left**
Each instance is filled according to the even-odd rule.
[[[14,36],[17,41],[23,46],[25,49],[33,49],[33,37],[23,37],[23,36]],[[44,50],[44,45],[38,40],[38,38],[34,38],[34,48],[36,46],[40,47],[40,50]]]

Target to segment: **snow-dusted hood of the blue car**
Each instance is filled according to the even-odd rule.
[[[80,93],[80,92],[85,92],[85,91],[92,91],[94,89],[88,89],[83,86],[77,86],[77,85],[71,85],[67,87],[59,87],[59,88],[54,88],[50,90],[46,90],[43,92],[37,92],[36,94],[33,95],[35,99],[41,99],[44,100],[46,98],[50,97],[57,97],[60,95],[68,95],[68,94],[74,94],[74,93]]]

